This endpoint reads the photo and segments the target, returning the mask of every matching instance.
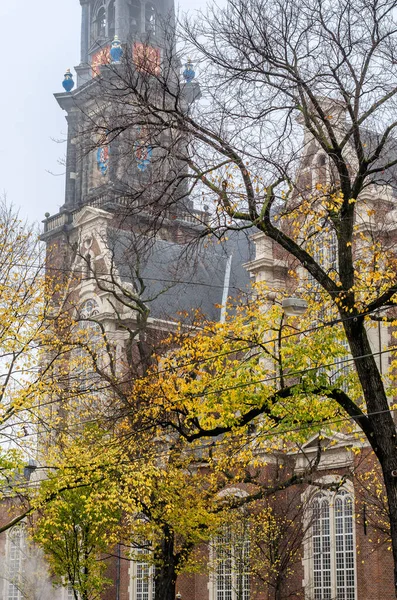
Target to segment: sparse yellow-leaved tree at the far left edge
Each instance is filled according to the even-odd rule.
[[[0,531],[31,510],[32,488],[23,477],[23,467],[35,458],[41,405],[57,387],[50,364],[42,360],[52,329],[43,258],[37,232],[1,199],[0,501],[16,506]]]

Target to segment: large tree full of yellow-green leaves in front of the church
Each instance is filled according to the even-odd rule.
[[[285,489],[316,485],[321,445],[299,475],[287,459],[277,467],[271,459],[319,430],[348,430],[339,402],[359,394],[357,378],[324,368],[345,354],[341,328],[286,320],[281,297],[269,305],[268,294],[258,287],[255,301],[237,305],[225,323],[180,325],[128,385],[125,373],[103,366],[106,333],[93,341],[71,323],[68,343],[86,349],[90,385],[77,394],[72,379],[65,390],[37,499],[54,501],[40,511],[35,539],[82,598],[94,600],[106,585],[103,564],[121,544],[123,559],[144,552],[157,597],[172,599],[179,573],[206,568],[200,545],[241,510],[260,513]],[[78,365],[72,358],[69,372]],[[79,492],[60,493],[67,487]],[[89,561],[76,521],[79,535],[90,532]]]

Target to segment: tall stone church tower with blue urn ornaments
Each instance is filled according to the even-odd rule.
[[[91,135],[88,141],[86,131],[93,106],[97,109],[101,102],[102,106],[105,104],[101,99],[100,80],[106,79],[106,69],[115,73],[117,69],[123,69],[124,61],[129,68],[139,72],[143,60],[146,65],[150,64],[149,76],[158,75],[162,69],[167,71],[173,60],[169,57],[174,57],[174,1],[80,0],[80,3],[81,61],[75,67],[76,86],[68,70],[62,84],[65,91],[55,94],[58,104],[66,112],[68,123],[65,199],[58,214],[50,216],[46,213],[43,236],[46,240],[61,231],[70,231],[77,212],[84,206],[116,214],[117,210],[132,206],[132,199],[139,196],[139,213],[145,212],[148,202],[143,190],[150,190],[153,196],[154,181],[159,188],[162,177],[160,171],[156,172],[155,164],[160,162],[159,151],[153,143],[153,135],[150,138],[144,126],[130,128],[124,137],[110,141],[105,126],[102,135]],[[172,70],[179,78],[182,69],[177,60],[175,65]],[[150,79],[147,77],[146,81]],[[191,66],[184,72],[185,80],[182,79],[180,77],[181,87],[186,88],[186,98],[190,102],[199,95]],[[107,101],[111,104],[109,97]],[[167,171],[164,158],[161,160],[162,170]],[[181,237],[180,230],[186,229],[187,223],[190,227],[192,222],[197,224],[205,218],[205,213],[195,211],[186,197],[183,207],[176,213],[171,216],[175,233],[167,234],[175,240]],[[179,232],[176,232],[178,228]]]

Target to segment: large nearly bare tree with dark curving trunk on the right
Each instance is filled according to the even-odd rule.
[[[381,465],[397,587],[396,428],[367,332],[397,292],[395,9],[392,0],[229,0],[182,24],[201,102],[187,101],[198,87],[181,83],[175,55],[163,70],[126,56],[98,85],[103,106],[112,103],[106,135],[122,144],[145,125],[167,165],[172,199],[159,179],[153,206],[160,196],[175,206],[185,186],[214,209],[206,233],[255,227],[339,314],[365,410],[346,395],[338,402]],[[316,251],[330,235],[332,269]]]

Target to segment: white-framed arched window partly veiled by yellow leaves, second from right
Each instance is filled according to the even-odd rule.
[[[224,527],[212,544],[212,600],[249,600],[249,532]]]

